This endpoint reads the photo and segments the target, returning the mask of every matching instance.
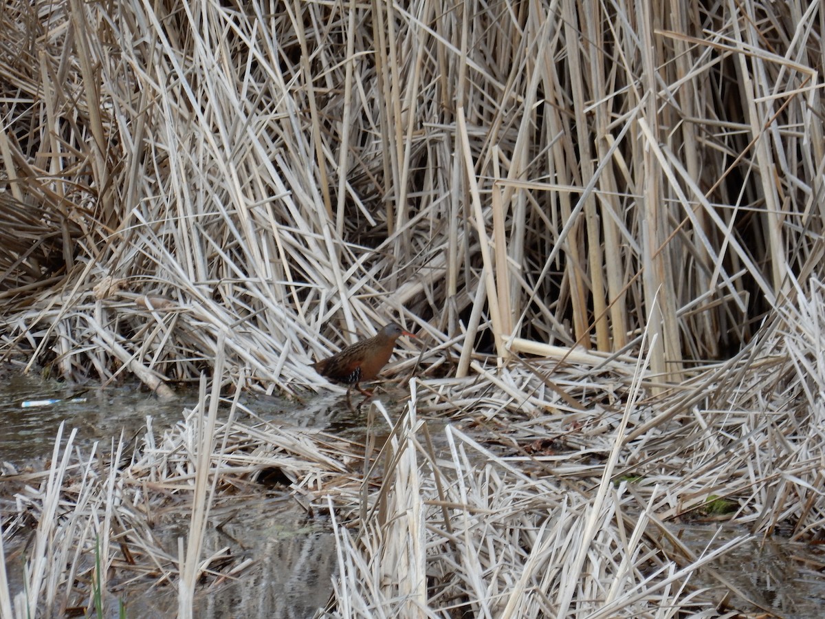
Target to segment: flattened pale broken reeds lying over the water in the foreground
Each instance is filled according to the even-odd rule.
[[[705,382],[692,385],[704,397],[673,392],[653,409],[639,399],[641,368],[624,376],[624,366],[614,361],[613,392],[606,391],[607,383],[591,384],[587,368],[568,366],[554,376],[566,390],[587,390],[587,408],[528,413],[521,402],[521,414],[507,418],[465,413],[461,429],[424,417],[429,407],[422,393],[460,395],[449,410],[468,409],[473,401],[502,410],[518,396],[516,385],[502,382],[497,392],[487,383],[462,380],[460,390],[445,391],[455,379],[416,379],[403,410],[385,409],[380,399],[369,404],[392,428],[376,451],[317,430],[250,423],[231,411],[217,423],[216,400],[207,405],[202,389],[199,412],[161,435],[149,427],[130,447],[129,462],[121,457],[123,445],[112,447],[111,459],[97,448],[88,456],[73,449],[62,457],[55,452],[50,471],[4,476],[15,493],[13,504],[23,510],[4,508],[6,555],[8,544],[26,530],[26,514],[38,517],[40,529],[52,527],[43,532],[55,540],[35,544],[26,568],[33,589],[28,596],[12,594],[13,616],[32,603],[76,606],[79,592],[65,584],[92,582],[93,562],[84,558],[96,548],[99,574],[120,581],[144,574],[130,579],[134,586],[177,582],[177,612],[196,612],[193,574],[207,583],[229,574],[243,578],[250,565],[231,542],[225,552],[203,557],[200,536],[215,518],[210,506],[237,503],[237,489],[273,467],[295,477],[290,493],[302,504],[332,512],[340,574],[331,612],[342,617],[437,617],[455,607],[491,617],[606,617],[619,608],[641,616],[662,607],[694,614],[718,602],[709,597],[712,589],[691,584],[698,574],[737,596],[741,602],[728,602],[734,608],[748,599],[758,607],[757,593],[712,564],[743,538],[700,554],[677,541],[666,521],[690,518],[723,497],[735,505],[727,517],[761,533],[796,522],[795,535],[809,539],[825,523],[815,455],[823,415],[815,398],[820,389],[810,388],[812,380],[825,385],[825,368],[811,353],[818,333],[825,333],[825,286],[816,289],[800,297],[799,312],[767,331],[770,339],[752,345],[752,356],[723,371],[706,370]],[[221,382],[216,376],[214,384]],[[555,397],[542,390],[546,386],[532,384],[536,403]],[[614,398],[621,407],[610,404]],[[436,429],[441,423],[443,430]],[[101,459],[111,465],[101,466]],[[784,475],[776,474],[778,467]],[[82,474],[70,482],[68,470]],[[97,479],[98,470],[106,475]],[[79,492],[78,476],[85,480]],[[50,517],[58,502],[71,517]],[[162,513],[177,513],[190,524],[186,552],[182,540],[177,555],[158,546],[147,521],[157,522]],[[81,522],[101,522],[105,530],[90,531]],[[107,541],[114,522],[130,531],[116,544]],[[119,560],[127,551],[132,560]],[[146,574],[155,574],[157,582]],[[99,583],[106,603],[106,579]]]

